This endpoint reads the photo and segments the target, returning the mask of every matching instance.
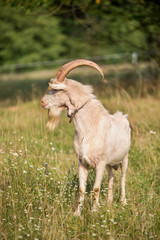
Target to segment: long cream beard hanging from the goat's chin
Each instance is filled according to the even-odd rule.
[[[55,127],[59,123],[59,117],[61,114],[62,108],[60,107],[52,107],[48,111],[48,122],[47,122],[47,127],[49,130],[54,130]]]

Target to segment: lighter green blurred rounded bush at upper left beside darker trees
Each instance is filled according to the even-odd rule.
[[[27,15],[22,9],[0,10],[1,63],[26,63],[53,60],[63,52],[59,21],[47,15]]]

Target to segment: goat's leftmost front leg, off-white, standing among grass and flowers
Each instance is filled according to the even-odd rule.
[[[81,163],[79,163],[79,199],[78,199],[78,207],[74,213],[74,216],[81,215],[85,191],[86,191],[87,177],[88,177],[88,168],[84,167]]]

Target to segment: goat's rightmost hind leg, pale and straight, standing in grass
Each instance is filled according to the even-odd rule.
[[[128,153],[124,157],[123,162],[121,164],[121,202],[122,204],[126,204],[126,194],[125,194],[125,182],[126,182],[126,171],[128,167]]]

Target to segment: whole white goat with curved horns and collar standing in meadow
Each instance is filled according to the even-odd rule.
[[[94,62],[78,59],[66,63],[50,80],[49,88],[42,98],[41,105],[49,110],[47,126],[54,129],[60,113],[67,110],[70,122],[75,125],[74,150],[79,159],[79,200],[75,215],[79,216],[83,207],[86,191],[88,168],[96,169],[93,186],[93,211],[99,206],[99,193],[105,168],[108,171],[108,203],[113,201],[112,169],[121,166],[121,201],[126,204],[125,178],[128,166],[131,129],[127,115],[116,112],[111,115],[93,95],[91,86],[65,78],[78,66],[95,68],[102,77],[101,68]]]

